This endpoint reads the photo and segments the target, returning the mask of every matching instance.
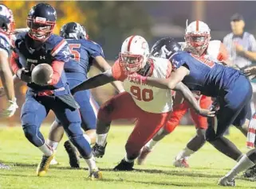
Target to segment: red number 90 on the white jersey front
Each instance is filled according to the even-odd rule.
[[[140,87],[132,86],[130,88],[130,91],[134,98],[140,101],[149,102],[152,101],[153,97],[153,91],[151,89],[143,89],[141,90]]]

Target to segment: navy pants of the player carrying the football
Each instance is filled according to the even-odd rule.
[[[60,120],[69,140],[77,147],[81,156],[86,159],[91,157],[92,150],[88,141],[83,137],[78,110],[70,110],[69,106],[53,96],[36,97],[30,91],[27,92],[21,114],[22,128],[26,138],[37,147],[45,143],[39,129],[49,110],[53,110],[58,120]]]

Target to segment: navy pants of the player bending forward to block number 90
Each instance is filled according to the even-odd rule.
[[[244,75],[240,75],[234,86],[219,97],[219,111],[215,118],[208,118],[207,141],[222,137],[231,125],[242,126],[250,109],[252,88]]]

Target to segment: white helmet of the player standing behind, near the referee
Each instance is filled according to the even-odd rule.
[[[187,46],[192,48],[206,49],[211,40],[211,29],[203,21],[193,21],[187,25],[185,40]]]

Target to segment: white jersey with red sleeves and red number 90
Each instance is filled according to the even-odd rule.
[[[148,63],[151,64],[150,77],[168,78],[171,74],[171,63],[167,59],[151,57],[148,59]],[[116,80],[123,81],[124,90],[132,95],[140,109],[155,114],[172,110],[171,90],[130,82],[120,68],[118,60],[112,66],[112,75]]]

